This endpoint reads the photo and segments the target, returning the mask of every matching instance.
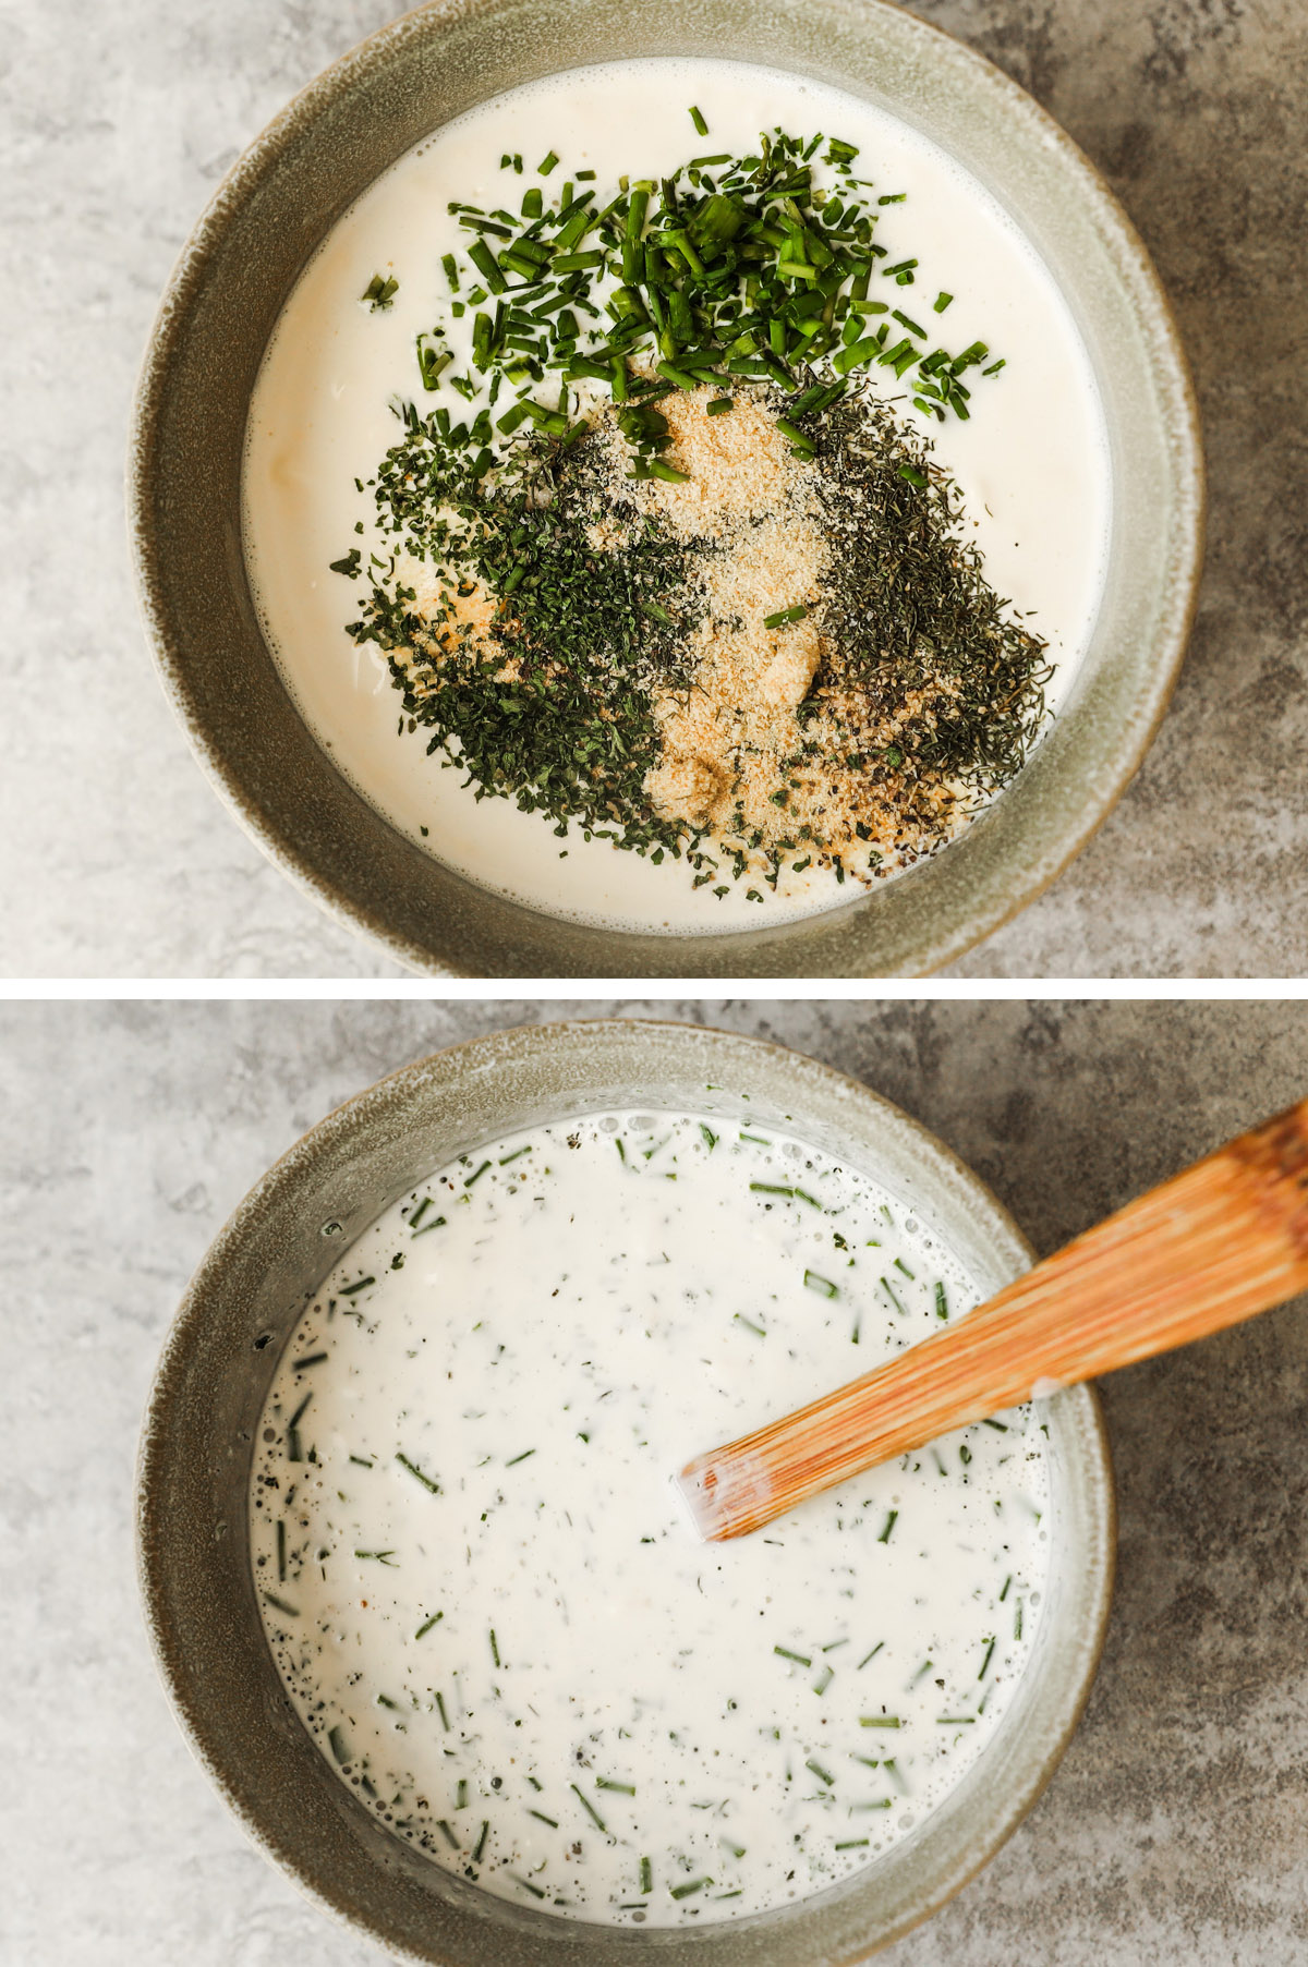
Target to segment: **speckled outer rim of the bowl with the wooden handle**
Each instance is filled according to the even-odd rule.
[[[159,1526],[169,1515],[163,1416],[171,1401],[179,1397],[181,1377],[187,1369],[189,1340],[207,1318],[207,1298],[210,1288],[220,1290],[222,1273],[226,1271],[230,1259],[242,1249],[246,1233],[252,1225],[266,1216],[269,1202],[281,1202],[281,1206],[285,1206],[295,1198],[301,1168],[311,1166],[315,1157],[319,1157],[325,1147],[330,1149],[342,1137],[352,1135],[360,1121],[366,1121],[374,1111],[382,1113],[397,1096],[403,1098],[405,1092],[417,1090],[423,1076],[441,1064],[454,1068],[464,1066],[472,1072],[482,1066],[494,1070],[496,1052],[500,1052],[505,1044],[521,1046],[527,1052],[533,1048],[545,1050],[570,1044],[582,1046],[588,1039],[604,1035],[614,1027],[618,1027],[624,1037],[639,1037],[641,1033],[647,1033],[663,1039],[665,1043],[679,1043],[673,1035],[684,1035],[688,1044],[704,1044],[722,1060],[722,1064],[730,1064],[732,1058],[767,1058],[771,1064],[781,1064],[781,1068],[793,1076],[797,1103],[808,1086],[818,1086],[844,1096],[846,1100],[854,1100],[863,1109],[873,1109],[879,1121],[889,1125],[899,1135],[901,1143],[911,1145],[911,1153],[919,1168],[930,1168],[932,1172],[944,1174],[980,1206],[985,1218],[985,1235],[993,1237],[995,1245],[1001,1249],[1001,1263],[1007,1263],[1009,1257],[1013,1257],[1017,1265],[1023,1261],[1037,1261],[1031,1243],[989,1186],[974,1174],[974,1170],[944,1141],[940,1141],[934,1133],[930,1133],[930,1129],[926,1129],[895,1102],[887,1100],[885,1094],[875,1092],[852,1074],[840,1072],[838,1068],[828,1066],[806,1052],[799,1052],[793,1046],[779,1044],[769,1039],[743,1037],[712,1025],[686,1025],[675,1019],[559,1019],[539,1025],[505,1027],[476,1039],[464,1039],[456,1044],[443,1046],[437,1052],[425,1054],[423,1058],[411,1060],[409,1064],[387,1072],[372,1086],[350,1094],[344,1102],[340,1102],[340,1105],[332,1107],[297,1141],[293,1141],[254,1182],[201,1257],[201,1263],[197,1265],[197,1271],[169,1324],[159,1351],[159,1361],[151,1377],[134,1473],[134,1554],[142,1617],[153,1664],[173,1719],[191,1755],[208,1776],[228,1812],[236,1818],[248,1841],[277,1869],[281,1877],[295,1884],[301,1896],[317,1906],[319,1912],[327,1914],[338,1928],[364,1934],[374,1943],[386,1947],[391,1957],[413,1961],[415,1967],[431,1967],[437,1955],[413,1951],[395,1934],[382,1932],[378,1926],[370,1924],[364,1914],[328,1896],[321,1878],[311,1877],[307,1869],[295,1863],[289,1853],[279,1847],[277,1837],[260,1821],[258,1810],[248,1806],[248,1802],[238,1794],[234,1780],[222,1766],[220,1753],[207,1741],[205,1715],[193,1698],[193,1676],[187,1676],[189,1662],[179,1656],[181,1648],[175,1648],[171,1639],[169,1581],[163,1560],[157,1554],[161,1548]],[[799,1131],[803,1131],[803,1117],[797,1125]],[[1058,1729],[1042,1747],[1037,1774],[1025,1780],[1017,1804],[1009,1806],[1007,1816],[999,1819],[997,1827],[991,1827],[991,1831],[987,1831],[987,1835],[968,1853],[964,1861],[956,1861],[944,1882],[926,1892],[911,1914],[901,1916],[893,1928],[877,1934],[871,1943],[863,1941],[860,1951],[844,1953],[840,1959],[830,1955],[826,1959],[826,1967],[860,1967],[860,1963],[901,1939],[907,1932],[913,1932],[950,1898],[954,1898],[1027,1819],[1039,1798],[1048,1788],[1072,1735],[1080,1725],[1101,1662],[1111,1613],[1117,1564],[1117,1495],[1111,1448],[1096,1387],[1092,1383],[1082,1383],[1080,1387],[1062,1389],[1054,1395],[1054,1401],[1068,1402],[1078,1408],[1078,1420],[1086,1428],[1090,1452],[1094,1456],[1090,1487],[1096,1491],[1094,1501],[1098,1507],[1100,1530],[1098,1542],[1092,1550],[1088,1550],[1086,1558],[1086,1572],[1090,1578],[1088,1601],[1092,1609],[1088,1625],[1082,1631],[1078,1674],[1068,1674],[1066,1680],[1066,1686],[1074,1688],[1072,1698],[1062,1707]],[[795,1910],[801,1910],[801,1906]],[[574,1922],[555,1924],[572,1926]],[[576,1924],[594,1926],[596,1922]],[[718,1930],[720,1928],[710,1928],[704,1932],[708,1934]]]

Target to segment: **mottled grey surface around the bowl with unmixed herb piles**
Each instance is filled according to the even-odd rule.
[[[919,0],[1121,193],[1176,303],[1210,570],[1135,787],[966,976],[1308,974],[1304,0]],[[0,972],[391,976],[222,812],[122,551],[159,287],[240,148],[393,0],[0,0]],[[561,51],[565,59],[566,51]]]

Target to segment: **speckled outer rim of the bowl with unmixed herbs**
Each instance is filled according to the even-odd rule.
[[[427,0],[427,4],[384,24],[309,81],[242,151],[210,197],[169,275],[142,360],[132,403],[128,447],[128,531],[142,620],[165,696],[205,775],[246,836],[334,921],[370,944],[380,946],[382,952],[407,970],[437,978],[511,974],[511,970],[509,966],[482,968],[476,962],[466,962],[460,950],[448,946],[437,954],[435,948],[425,946],[413,934],[386,921],[374,897],[346,895],[332,867],[321,856],[315,858],[307,844],[285,838],[277,816],[262,810],[256,789],[246,783],[246,775],[236,761],[226,757],[212,742],[203,712],[191,700],[187,655],[173,639],[169,608],[163,600],[163,582],[159,580],[163,555],[153,525],[151,472],[157,433],[167,419],[175,332],[189,309],[203,295],[208,268],[220,254],[226,232],[236,222],[238,210],[258,193],[266,173],[275,169],[295,136],[309,128],[340,90],[348,90],[354,85],[360,69],[387,59],[393,43],[409,35],[439,35],[446,22],[468,20],[470,16],[494,16],[502,6],[504,0]],[[1088,210],[1096,212],[1100,230],[1105,236],[1113,236],[1115,256],[1123,266],[1129,266],[1133,293],[1147,315],[1151,372],[1172,417],[1166,437],[1166,452],[1174,478],[1174,509],[1166,541],[1170,565],[1162,566],[1160,563],[1159,572],[1164,604],[1159,614],[1157,631],[1151,637],[1147,669],[1135,677],[1129,704],[1117,708],[1111,718],[1117,728],[1111,769],[1100,773],[1101,783],[1082,785],[1076,810],[1060,816],[1058,824],[1050,828],[1050,848],[1040,858],[1037,869],[1019,869],[1013,858],[1009,860],[1011,875],[1003,885],[1003,893],[991,893],[983,903],[976,897],[944,897],[944,905],[932,911],[932,924],[919,926],[913,934],[913,946],[919,954],[911,964],[887,970],[875,962],[871,950],[865,950],[858,960],[840,966],[824,964],[820,972],[844,976],[926,976],[976,948],[976,944],[1044,893],[1103,826],[1135,777],[1176,686],[1198,608],[1206,519],[1204,454],[1198,401],[1172,305],[1137,228],[1096,165],[1048,110],[970,43],[946,33],[932,22],[903,12],[893,0],[860,0],[860,8],[867,16],[875,12],[875,16],[893,18],[897,24],[893,31],[905,35],[905,45],[917,37],[921,47],[938,51],[942,59],[950,59],[960,71],[968,69],[974,89],[989,90],[991,98],[1011,118],[1025,122],[1046,148],[1060,153],[1064,167],[1078,181]],[[328,757],[325,757],[325,765],[332,771],[338,769]],[[350,785],[352,781],[346,779],[344,783]],[[389,826],[389,820],[380,810],[378,818]],[[921,867],[930,867],[934,860],[936,856],[930,856]],[[897,879],[913,879],[915,871],[921,869],[909,869],[907,875]],[[446,869],[446,873],[454,873],[454,869]],[[456,875],[456,879],[482,895],[494,895],[494,889],[484,889],[468,877]],[[860,901],[873,903],[875,895],[877,889],[863,897],[854,897],[844,909],[858,909]],[[541,911],[529,903],[515,903],[500,895],[494,895],[494,899],[523,917],[545,915],[549,919],[549,911]],[[793,924],[761,924],[759,928],[724,930],[716,936],[659,938],[667,940],[669,952],[675,950],[679,956],[679,962],[669,964],[667,970],[659,964],[653,970],[643,970],[635,962],[637,944],[649,942],[649,936],[625,928],[604,928],[602,936],[606,938],[606,946],[614,950],[614,964],[594,968],[594,974],[806,976],[814,974],[812,952],[808,940],[799,932],[810,926],[812,934],[816,934],[818,924],[822,924],[838,942],[840,919],[842,907],[838,905],[812,917],[801,917]],[[553,921],[559,923],[559,919]],[[578,930],[582,926],[590,924],[576,924]],[[793,958],[787,958],[787,942],[775,940],[787,928],[797,932],[795,948],[801,956],[808,958],[806,962],[797,964]],[[590,932],[596,932],[594,926]],[[740,970],[732,968],[730,956],[718,952],[718,946],[728,938],[740,948]],[[437,930],[433,942],[439,940],[441,932]],[[710,942],[714,944],[712,952],[708,952]],[[696,960],[696,944],[708,952],[708,960],[704,956]],[[757,962],[753,960],[753,952],[757,952]]]

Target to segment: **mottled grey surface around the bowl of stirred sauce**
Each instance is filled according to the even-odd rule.
[[[1308,1005],[618,1009],[863,1078],[1042,1253],[1308,1092]],[[382,1967],[246,1847],[173,1727],[132,1578],[136,1428],[183,1284],[269,1161],[393,1066],[539,1015],[0,1009],[4,1967]],[[1023,1829],[887,1967],[1308,1959],[1306,1312],[1105,1385],[1121,1570],[1090,1709]]]

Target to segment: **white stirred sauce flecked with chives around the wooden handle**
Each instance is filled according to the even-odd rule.
[[[875,1863],[1031,1652],[1039,1410],[730,1544],[671,1477],[976,1300],[771,1129],[600,1115],[433,1176],[305,1312],[260,1430],[256,1591],[323,1755],[437,1865],[565,1918],[702,1924]]]

